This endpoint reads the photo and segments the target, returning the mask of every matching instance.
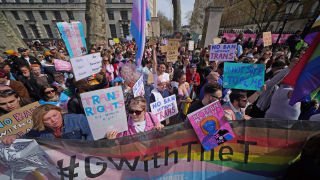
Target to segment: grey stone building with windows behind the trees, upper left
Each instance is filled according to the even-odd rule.
[[[154,21],[157,19],[155,1],[149,0]],[[132,0],[106,0],[108,38],[125,38],[130,34],[132,3]],[[80,21],[86,34],[85,8],[86,0],[0,0],[0,10],[23,40],[60,39],[57,22]]]

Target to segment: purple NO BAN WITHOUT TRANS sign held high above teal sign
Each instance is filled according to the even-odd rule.
[[[210,48],[209,61],[234,61],[237,44],[217,44]]]

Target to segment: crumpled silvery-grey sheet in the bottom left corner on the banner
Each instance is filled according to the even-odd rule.
[[[17,139],[10,147],[0,143],[0,158],[10,168],[13,179],[23,179],[28,173],[39,174],[39,171],[49,171],[59,179],[54,162],[34,139]]]

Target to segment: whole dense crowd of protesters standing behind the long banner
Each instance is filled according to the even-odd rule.
[[[244,42],[242,34],[237,43],[235,63],[265,64],[265,84],[259,91],[223,88],[224,62],[209,61],[210,49],[189,51],[187,43],[180,43],[175,62],[167,62],[166,53],[156,44],[146,43],[142,67],[135,62],[137,46],[125,41],[109,47],[93,45],[90,53],[100,53],[100,73],[75,81],[73,72],[57,71],[55,59],[70,61],[62,41],[28,43],[29,48],[18,52],[7,50],[0,56],[0,115],[39,101],[33,113],[34,128],[27,137],[68,138],[92,140],[92,132],[85,117],[80,94],[98,89],[121,86],[128,116],[128,130],[106,132],[106,138],[136,134],[151,129],[188,121],[187,114],[212,102],[220,101],[225,120],[251,118],[279,118],[283,120],[319,120],[317,99],[289,105],[293,87],[282,83],[284,77],[299,61],[306,48],[294,46],[299,31],[289,46],[270,49],[256,47],[251,39]],[[228,43],[223,39],[222,43]],[[133,96],[133,86],[143,76],[144,97]],[[151,78],[150,78],[151,77]],[[153,79],[153,81],[150,81]],[[176,95],[179,113],[160,122],[150,112],[150,104]],[[5,138],[11,144],[18,135]]]

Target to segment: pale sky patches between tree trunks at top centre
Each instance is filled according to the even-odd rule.
[[[181,23],[187,25],[186,15],[193,10],[195,0],[180,0],[181,2]],[[157,11],[163,12],[169,19],[173,19],[173,8],[171,0],[157,0]]]

